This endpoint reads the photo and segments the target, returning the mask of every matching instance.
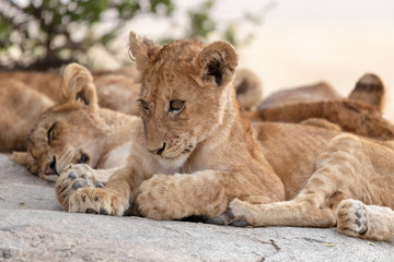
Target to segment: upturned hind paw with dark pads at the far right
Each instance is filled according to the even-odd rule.
[[[358,200],[343,200],[337,211],[339,233],[350,237],[362,237],[368,230],[366,206]]]

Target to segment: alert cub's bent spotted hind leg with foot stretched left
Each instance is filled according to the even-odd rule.
[[[316,170],[293,200],[252,204],[234,199],[227,216],[232,217],[232,221],[246,221],[254,226],[334,226],[334,210],[341,200],[351,196],[344,184],[355,174],[362,174],[358,170],[361,167],[355,162],[351,150],[355,146],[354,140],[348,136],[334,140],[327,152],[317,158]],[[362,159],[361,155],[358,159]]]

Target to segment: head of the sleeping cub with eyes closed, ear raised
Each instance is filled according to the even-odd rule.
[[[61,102],[40,115],[28,135],[27,154],[16,154],[15,160],[53,181],[71,163],[94,166],[101,145],[96,138],[102,132],[97,109],[92,75],[77,63],[69,64],[63,71]]]

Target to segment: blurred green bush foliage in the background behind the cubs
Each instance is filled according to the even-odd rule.
[[[187,12],[184,37],[205,40],[216,32],[236,45],[234,24],[220,29],[212,17],[215,4],[205,0]],[[0,67],[46,70],[85,61],[91,47],[107,47],[126,22],[141,14],[172,20],[175,10],[174,0],[0,0]],[[104,33],[93,33],[99,24],[107,24]],[[171,39],[169,34],[162,41]]]

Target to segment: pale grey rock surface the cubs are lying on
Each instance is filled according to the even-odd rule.
[[[0,261],[393,261],[335,228],[234,228],[62,212],[54,184],[0,155]]]

